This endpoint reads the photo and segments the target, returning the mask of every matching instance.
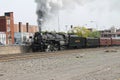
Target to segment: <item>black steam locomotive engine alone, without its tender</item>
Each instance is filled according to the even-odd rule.
[[[67,35],[45,32],[36,32],[32,42],[32,50],[36,51],[58,51],[65,49],[68,43]]]

